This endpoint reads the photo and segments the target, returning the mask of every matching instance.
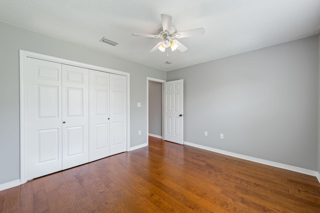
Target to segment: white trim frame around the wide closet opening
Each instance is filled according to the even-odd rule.
[[[26,94],[25,94],[25,85],[26,85],[26,58],[36,58],[41,60],[47,60],[52,62],[57,62],[61,64],[67,64],[72,66],[83,67],[87,69],[98,70],[102,72],[114,73],[118,75],[126,76],[126,151],[129,151],[130,148],[130,73],[122,72],[114,69],[109,69],[105,67],[85,64],[81,62],[76,62],[72,60],[67,60],[63,58],[57,58],[53,56],[43,55],[39,53],[29,52],[25,50],[19,49],[19,86],[20,86],[20,184],[24,184],[27,182],[26,180],[26,170],[27,170],[27,162],[26,162]]]

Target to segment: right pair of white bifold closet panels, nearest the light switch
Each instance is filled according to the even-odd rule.
[[[91,162],[126,151],[126,77],[90,70],[89,85]]]

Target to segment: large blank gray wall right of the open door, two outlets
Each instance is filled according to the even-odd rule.
[[[169,71],[167,81],[184,79],[184,141],[316,171],[318,42]]]

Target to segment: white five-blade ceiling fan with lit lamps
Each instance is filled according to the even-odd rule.
[[[188,48],[181,44],[174,38],[185,38],[196,35],[203,35],[204,28],[190,29],[182,32],[176,32],[174,26],[172,26],[172,16],[161,14],[162,28],[158,30],[157,35],[149,35],[149,34],[139,34],[132,33],[132,36],[140,36],[140,37],[151,37],[151,38],[160,38],[162,41],[158,42],[149,52],[154,52],[157,49],[164,52],[167,47],[171,47],[171,50],[179,50],[180,52],[184,52]]]

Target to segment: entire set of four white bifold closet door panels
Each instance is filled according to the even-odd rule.
[[[26,60],[27,180],[126,151],[126,76]]]

